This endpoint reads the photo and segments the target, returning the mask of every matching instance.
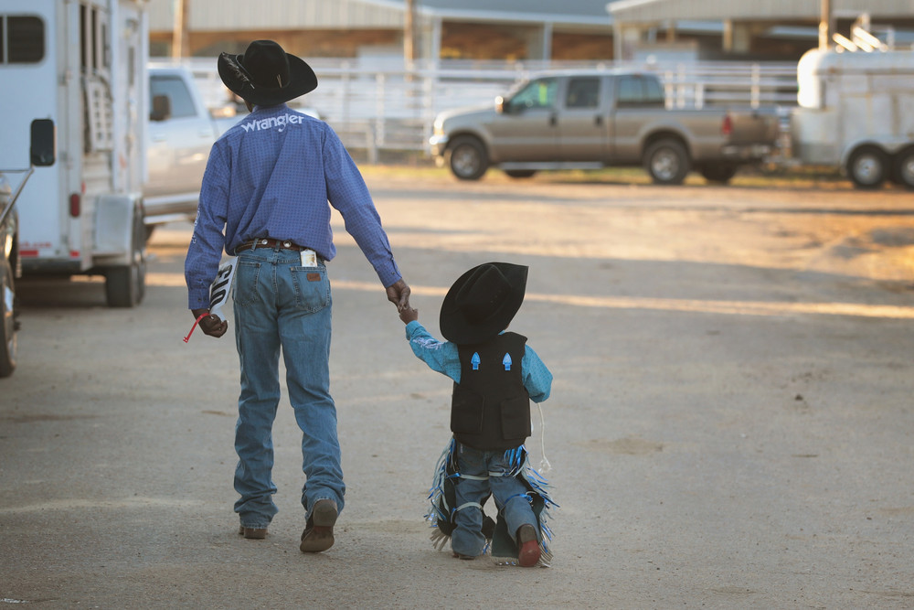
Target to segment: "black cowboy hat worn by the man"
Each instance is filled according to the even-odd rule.
[[[311,66],[272,40],[254,40],[243,55],[222,53],[218,69],[230,91],[259,106],[289,102],[317,87]]]

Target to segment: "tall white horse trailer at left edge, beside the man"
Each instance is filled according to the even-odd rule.
[[[145,289],[148,115],[144,0],[0,3],[0,169],[29,166],[29,130],[53,122],[57,159],[16,203],[24,275],[102,274],[112,306]]]

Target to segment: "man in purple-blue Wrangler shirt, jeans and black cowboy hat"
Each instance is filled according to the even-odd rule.
[[[345,219],[399,310],[409,286],[394,262],[365,181],[334,131],[285,102],[314,90],[317,77],[302,59],[270,40],[242,55],[223,53],[218,71],[252,111],[213,145],[200,188],[185,275],[189,307],[203,332],[221,337],[228,323],[209,315],[209,286],[222,251],[238,256],[235,333],[241,369],[235,449],[239,533],[262,539],[277,512],[272,501],[271,429],[280,399],[279,357],[303,432],[302,504],[307,519],[301,550],[334,543],[345,485],[329,391],[330,282],[336,253],[329,201]]]

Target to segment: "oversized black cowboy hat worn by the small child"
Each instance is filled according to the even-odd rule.
[[[486,262],[463,273],[441,303],[441,335],[457,344],[482,343],[505,330],[524,302],[528,269]]]

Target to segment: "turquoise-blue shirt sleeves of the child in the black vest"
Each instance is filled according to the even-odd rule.
[[[452,380],[460,383],[460,355],[457,344],[447,341],[442,343],[432,337],[425,326],[413,320],[406,325],[406,337],[409,347],[417,358],[421,359],[432,370],[447,375]],[[524,378],[524,387],[530,400],[542,402],[549,398],[552,391],[552,373],[543,364],[530,346],[524,346],[524,358],[520,361],[521,375]]]

